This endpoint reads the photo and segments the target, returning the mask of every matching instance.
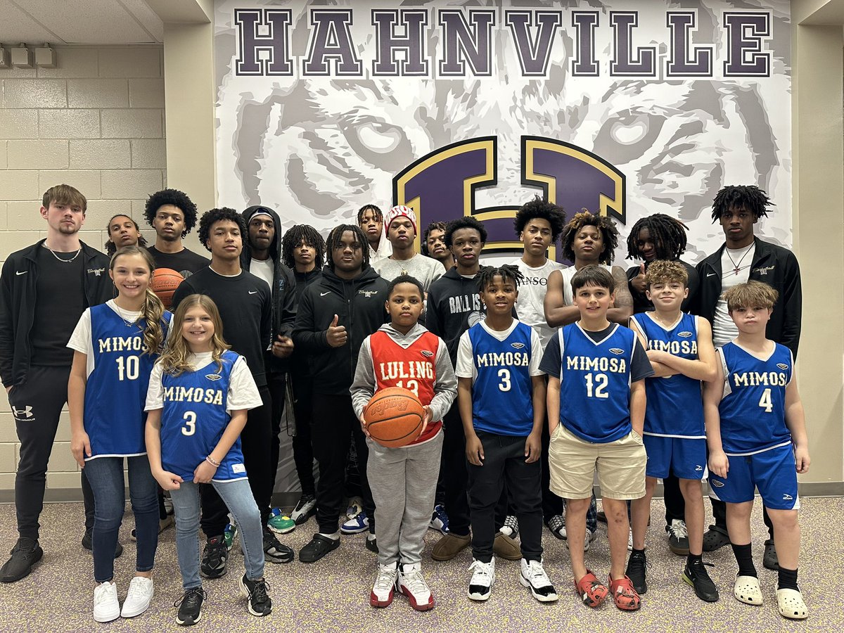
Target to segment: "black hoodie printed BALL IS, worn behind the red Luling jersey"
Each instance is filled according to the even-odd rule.
[[[457,365],[460,336],[484,318],[478,279],[466,279],[454,266],[430,284],[425,327],[446,342],[452,365]]]

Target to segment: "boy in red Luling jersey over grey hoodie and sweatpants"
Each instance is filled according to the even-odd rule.
[[[412,444],[386,448],[366,440],[378,544],[378,576],[370,604],[387,607],[398,589],[418,611],[434,607],[421,571],[423,538],[440,473],[441,420],[457,395],[446,344],[419,325],[423,297],[417,279],[401,275],[392,280],[385,304],[391,322],[365,338],[350,389],[361,423],[366,403],[379,389],[403,387],[425,406],[422,434]]]

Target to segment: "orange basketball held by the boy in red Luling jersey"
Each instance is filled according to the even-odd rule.
[[[425,409],[414,392],[402,387],[387,387],[372,396],[364,408],[366,430],[373,440],[395,448],[407,446],[422,433]]]

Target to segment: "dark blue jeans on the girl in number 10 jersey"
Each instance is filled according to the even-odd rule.
[[[110,581],[114,576],[114,549],[126,507],[123,487],[124,457],[96,457],[85,462],[85,473],[94,491],[94,580]],[[149,471],[146,455],[125,457],[129,467],[129,498],[135,514],[138,548],[137,571],[150,571],[158,547],[158,484]]]

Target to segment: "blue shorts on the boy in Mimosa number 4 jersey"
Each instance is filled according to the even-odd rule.
[[[771,510],[798,510],[797,465],[791,443],[750,455],[728,455],[727,477],[709,473],[711,495],[726,503],[753,500],[759,489]]]

